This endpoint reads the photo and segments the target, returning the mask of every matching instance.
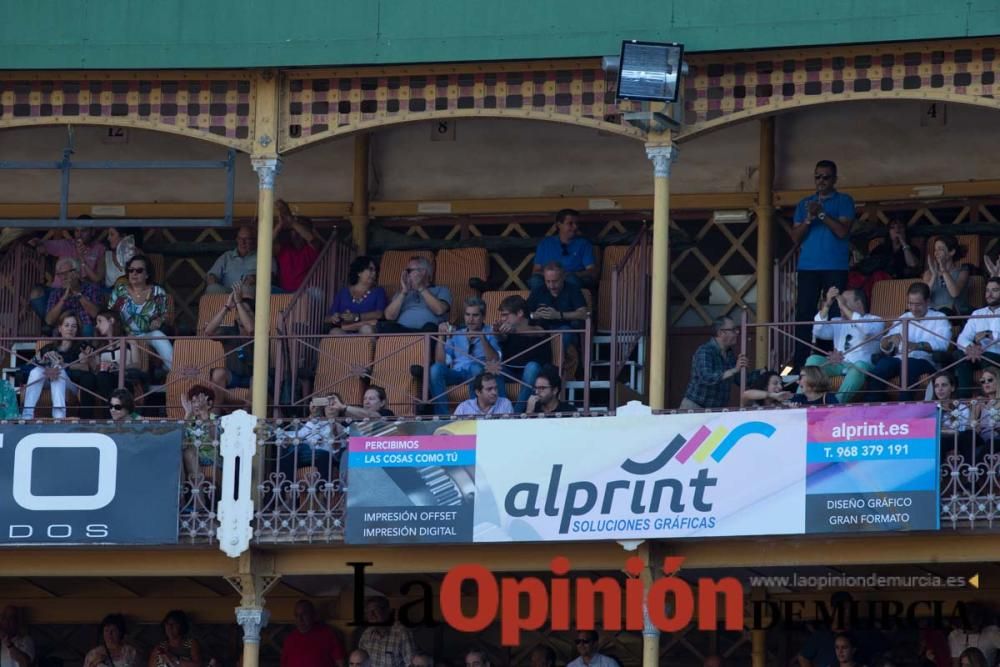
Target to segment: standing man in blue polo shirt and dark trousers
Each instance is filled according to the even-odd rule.
[[[837,165],[831,160],[816,163],[813,177],[816,194],[809,195],[795,207],[792,240],[802,246],[799,253],[798,298],[795,320],[812,320],[820,296],[830,287],[847,286],[851,263],[851,223],[854,222],[854,199],[838,192]],[[831,312],[831,317],[840,313]],[[806,343],[811,338],[810,324],[795,327],[795,364],[801,366],[809,356]]]

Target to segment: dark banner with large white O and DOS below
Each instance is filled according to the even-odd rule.
[[[183,425],[0,424],[0,545],[177,542]]]

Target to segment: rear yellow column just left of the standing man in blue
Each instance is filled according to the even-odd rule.
[[[757,323],[774,319],[774,117],[760,121],[760,167],[757,186]],[[767,368],[767,329],[757,328],[757,368]]]

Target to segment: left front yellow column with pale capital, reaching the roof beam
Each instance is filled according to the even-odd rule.
[[[271,255],[274,230],[274,177],[281,170],[278,158],[278,77],[262,72],[256,84],[256,121],[250,162],[257,172],[257,293],[254,295],[253,414],[267,417],[267,372],[271,328]],[[245,667],[256,667],[245,665]]]

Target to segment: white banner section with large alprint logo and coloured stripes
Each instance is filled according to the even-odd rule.
[[[806,410],[485,421],[476,542],[803,532]]]

